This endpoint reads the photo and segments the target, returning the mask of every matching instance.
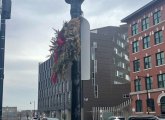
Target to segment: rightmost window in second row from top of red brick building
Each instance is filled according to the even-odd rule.
[[[155,44],[159,44],[163,42],[162,30],[155,32],[154,39],[155,39]]]

